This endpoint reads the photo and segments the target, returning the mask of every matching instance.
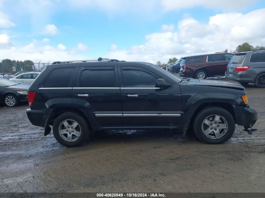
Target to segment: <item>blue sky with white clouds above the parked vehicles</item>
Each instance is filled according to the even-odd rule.
[[[264,0],[0,0],[0,60],[169,58],[265,46]]]

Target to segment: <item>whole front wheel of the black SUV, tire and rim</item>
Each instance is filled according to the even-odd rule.
[[[214,119],[218,120],[216,116],[220,116],[219,122],[215,122]],[[193,130],[202,142],[206,144],[221,144],[229,140],[235,132],[235,120],[231,113],[224,108],[207,107],[196,115],[193,122]]]

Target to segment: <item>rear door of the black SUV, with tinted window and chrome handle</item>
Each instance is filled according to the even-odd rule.
[[[117,63],[82,63],[72,103],[82,109],[92,126],[122,125]]]

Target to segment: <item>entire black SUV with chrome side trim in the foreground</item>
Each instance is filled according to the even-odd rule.
[[[220,97],[221,95],[221,97]],[[244,87],[214,80],[179,79],[151,63],[116,59],[62,61],[47,65],[29,87],[27,115],[52,125],[62,145],[82,145],[91,130],[193,127],[205,143],[230,139],[235,124],[250,129],[257,112]]]

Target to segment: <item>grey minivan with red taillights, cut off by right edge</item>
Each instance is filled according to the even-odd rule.
[[[225,78],[265,88],[265,50],[236,53],[228,63]]]

